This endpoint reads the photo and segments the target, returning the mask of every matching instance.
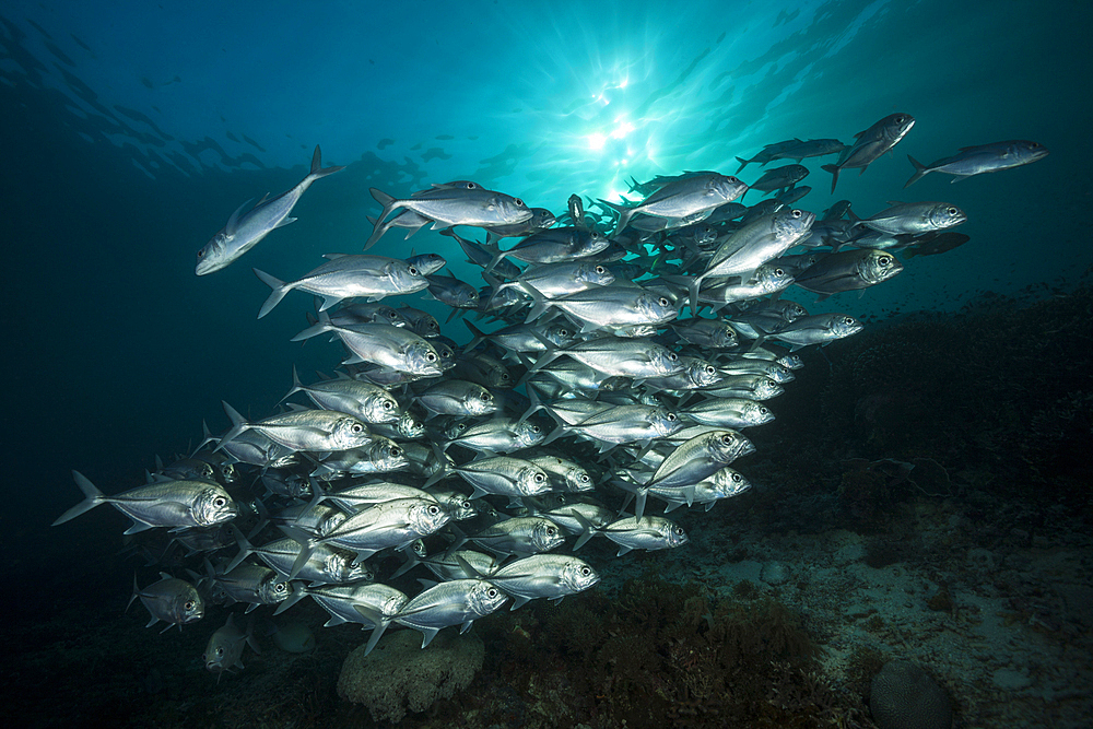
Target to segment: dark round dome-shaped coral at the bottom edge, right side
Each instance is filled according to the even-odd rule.
[[[907,661],[884,665],[873,679],[869,708],[881,729],[949,729],[952,704],[929,673]]]

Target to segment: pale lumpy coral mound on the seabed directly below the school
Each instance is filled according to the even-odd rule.
[[[424,712],[470,685],[482,668],[485,647],[472,635],[440,632],[422,649],[421,635],[400,631],[384,636],[369,656],[361,646],[345,658],[338,694],[364,704],[377,721],[398,721]]]

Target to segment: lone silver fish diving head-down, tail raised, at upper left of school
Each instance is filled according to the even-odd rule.
[[[312,183],[341,172],[344,168],[344,166],[340,165],[324,167],[322,154],[319,151],[318,144],[316,144],[315,153],[312,155],[312,169],[307,176],[295,187],[282,192],[272,200],[263,198],[246,213],[243,212],[243,209],[247,207],[247,202],[239,205],[238,210],[232,213],[227,224],[198,251],[198,263],[195,268],[195,273],[198,275],[208,275],[214,271],[227,268],[258,245],[273,230],[294,222],[296,219],[290,217],[289,214],[296,207],[304,191],[312,186]]]

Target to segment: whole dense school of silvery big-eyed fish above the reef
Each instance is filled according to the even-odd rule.
[[[687,534],[662,514],[708,510],[751,487],[747,467],[737,470],[754,450],[743,431],[774,419],[766,401],[802,366],[795,352],[862,328],[783,293],[797,285],[823,301],[865,290],[900,273],[897,251],[967,242],[952,230],[966,215],[950,202],[893,202],[868,216],[849,201],[820,215],[795,207],[811,189],[799,185],[806,158],[838,155],[822,167],[834,191],[843,171],[865,173],[914,124],[892,114],[850,144],[768,144],[738,157],[736,174],[795,163],[750,185],[684,172],[633,180],[639,202],[574,195],[557,217],[471,180],[406,197],[373,189],[381,210],[364,251],[391,228],[409,238],[431,226],[485,285],[442,273],[435,252],[330,254],[285,281],[256,269],[270,289],[259,318],[293,291],[314,297],[293,341],[340,341],[337,375],[305,384],[293,371],[283,409],[260,420],[225,402],[231,427],[207,430],[169,465],[157,459],[146,483],[106,495],[74,471],[85,498],[55,525],[102,504],[128,516],[131,549],[161,568],[144,587],[134,576],[130,603],[140,599],[149,625],[164,630],[226,613],[203,657],[218,674],[242,669],[246,646],[258,649],[252,616],[240,627],[238,612],[277,615],[312,598],[327,626],[371,630],[368,651],[392,624],[420,631],[425,647],[509,601],[515,610],[592,587],[600,576],[577,556],[589,540],[612,542],[616,556],[682,546]],[[907,186],[1046,154],[1008,141],[929,165],[909,157]],[[304,191],[341,169],[322,167],[316,148],[298,185],[232,214],[196,273],[230,266],[291,223]],[[752,190],[771,197],[745,207]],[[415,293],[450,307],[469,341],[404,303]],[[407,573],[428,579],[410,595],[391,585],[404,587]]]

